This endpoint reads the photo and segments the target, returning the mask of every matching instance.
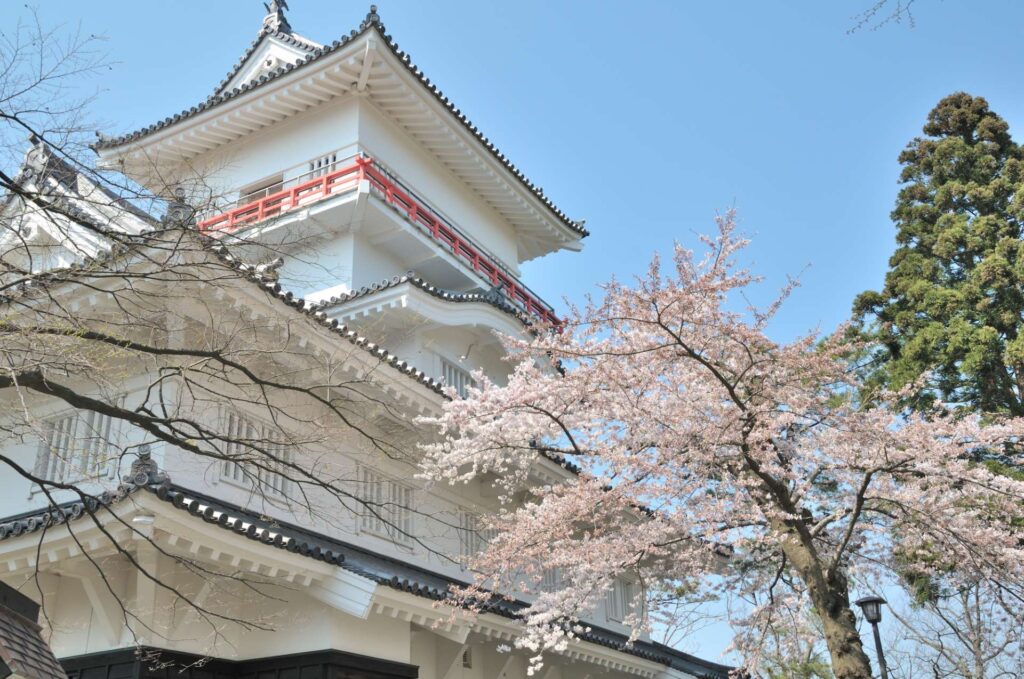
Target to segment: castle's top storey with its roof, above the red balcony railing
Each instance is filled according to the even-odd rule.
[[[254,208],[247,225],[278,216],[259,214],[263,199],[369,158],[512,274],[587,236],[412,63],[373,8],[330,45],[268,15],[206,101],[96,148],[102,165],[155,193],[189,186],[201,218]]]

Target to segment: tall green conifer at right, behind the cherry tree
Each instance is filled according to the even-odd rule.
[[[878,347],[871,384],[972,412],[1024,415],[1021,148],[988,102],[966,92],[928,114],[900,154],[896,252],[885,287],[854,317]]]

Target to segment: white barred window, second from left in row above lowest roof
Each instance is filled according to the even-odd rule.
[[[259,456],[262,467],[276,467],[280,471],[257,467],[247,472],[245,461],[221,459],[217,464],[217,480],[253,490],[252,480],[255,474],[259,480],[259,489],[264,495],[271,498],[287,498],[292,491],[292,481],[286,478],[285,470],[293,462],[293,456],[288,444],[280,440],[281,436],[273,435],[276,427],[238,411],[225,411],[221,416],[221,424],[228,438],[258,441],[260,448],[278,459],[278,462],[273,462],[269,457]],[[259,455],[250,452],[244,443],[237,441],[224,441],[223,453],[228,457]]]

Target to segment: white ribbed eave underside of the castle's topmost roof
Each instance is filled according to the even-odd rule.
[[[512,173],[505,157],[481,141],[461,113],[455,118],[451,102],[430,91],[429,82],[386,36],[368,29],[343,49],[310,56],[212,105],[127,135],[123,142],[102,141],[97,148],[103,164],[123,161],[129,173],[144,176],[155,164],[187,164],[336,97],[364,96],[508,220],[520,235],[523,260],[560,248],[579,250],[586,229]]]

